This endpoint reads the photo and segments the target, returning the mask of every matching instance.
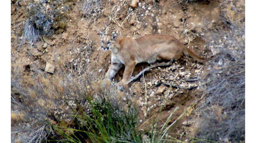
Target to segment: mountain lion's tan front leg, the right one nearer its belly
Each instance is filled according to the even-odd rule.
[[[135,65],[135,61],[125,65],[126,67],[124,68],[123,79],[120,81],[121,86],[127,85],[127,81],[130,76],[132,76]]]

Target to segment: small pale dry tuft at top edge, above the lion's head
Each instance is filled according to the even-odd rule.
[[[101,0],[83,0],[82,12],[84,16],[98,13],[102,6]]]

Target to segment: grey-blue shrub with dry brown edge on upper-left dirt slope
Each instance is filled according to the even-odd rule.
[[[35,43],[42,36],[50,37],[55,31],[66,28],[67,10],[69,5],[63,6],[62,1],[41,0],[29,4],[26,11],[24,40]]]

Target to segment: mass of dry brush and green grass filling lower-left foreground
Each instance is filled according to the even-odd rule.
[[[157,130],[157,122],[150,130],[139,131],[137,112],[130,104],[129,94],[112,85],[101,86],[93,74],[78,78],[62,70],[55,76],[43,72],[27,76],[19,71],[13,65],[12,142],[174,140],[167,130],[163,132],[166,128]]]

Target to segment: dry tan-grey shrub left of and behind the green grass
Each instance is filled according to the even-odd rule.
[[[87,97],[94,102],[109,100],[115,109],[127,109],[129,94],[102,81],[89,69],[83,75],[60,63],[55,73],[25,71],[12,64],[12,142],[41,142],[56,136],[52,125],[64,128],[76,124],[75,117],[89,113]],[[125,100],[124,100],[125,99]]]

